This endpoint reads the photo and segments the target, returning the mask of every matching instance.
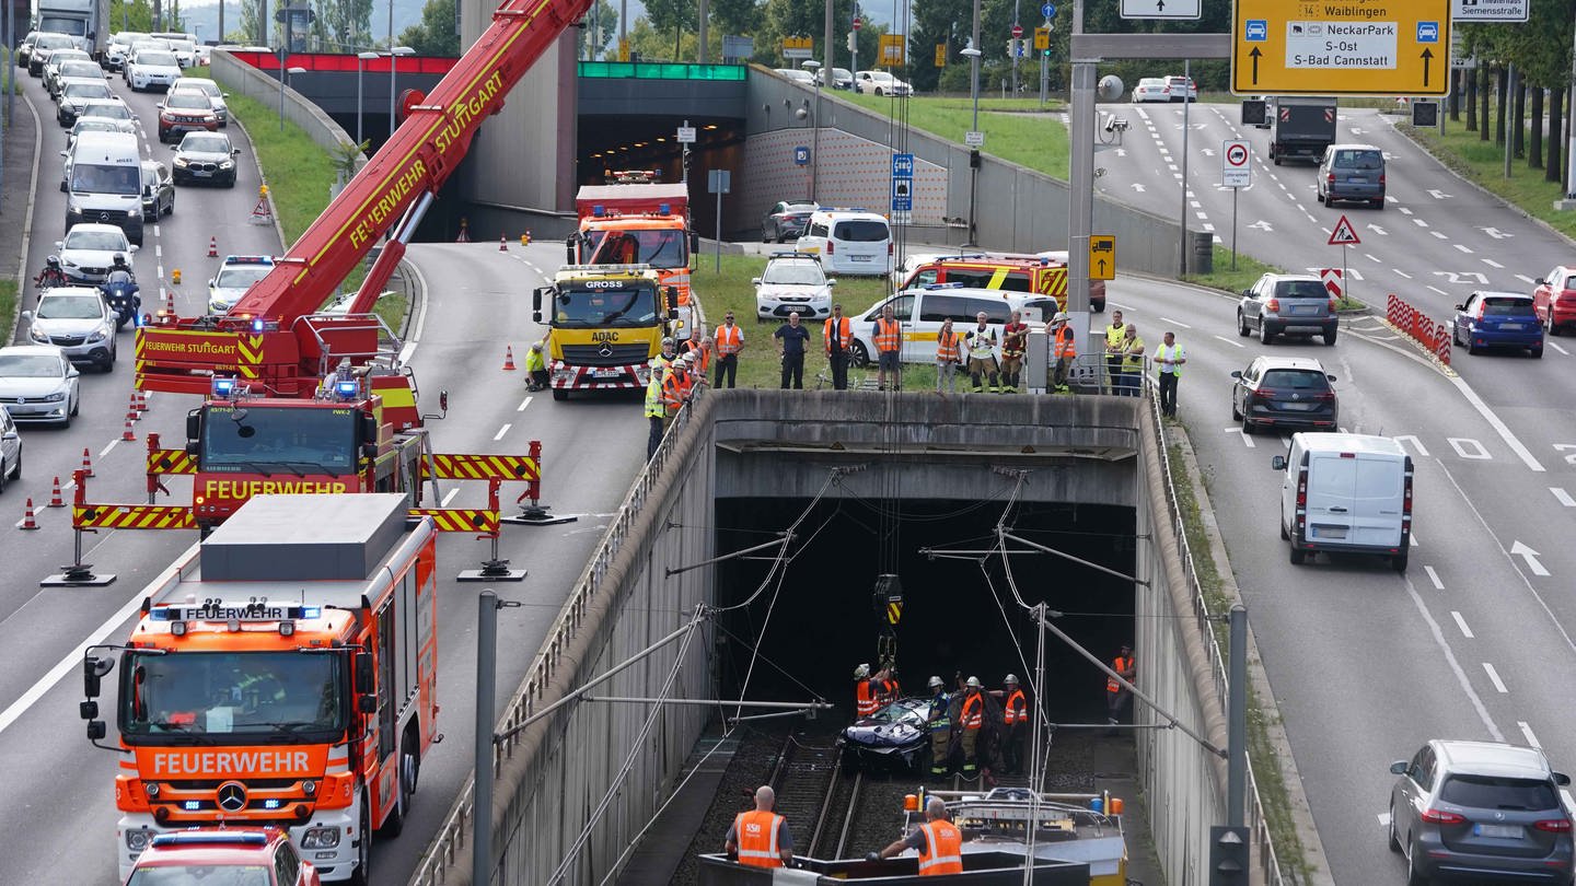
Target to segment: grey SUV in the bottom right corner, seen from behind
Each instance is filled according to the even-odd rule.
[[[1411,886],[1436,877],[1571,881],[1571,818],[1559,791],[1570,777],[1537,747],[1434,739],[1390,771],[1401,776],[1390,790],[1390,850],[1406,856]]]

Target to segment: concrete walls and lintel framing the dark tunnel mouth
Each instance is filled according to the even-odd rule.
[[[914,421],[905,423],[898,437],[933,445],[927,459],[942,459],[936,445],[941,441],[1004,451],[1039,440],[1057,452],[1039,457],[1065,462],[1062,473],[1069,478],[1091,471],[1111,481],[1113,470],[1127,471],[1127,479],[1117,481],[1116,487],[1127,495],[1121,503],[1138,511],[1136,577],[1147,582],[1135,594],[1139,687],[1180,722],[1223,747],[1220,653],[1214,648],[1209,624],[1198,618],[1195,590],[1179,555],[1180,539],[1168,508],[1163,443],[1152,404],[1105,396],[1026,396],[1007,402],[991,397],[988,405],[987,399],[979,399],[979,411],[958,411],[957,404],[927,394],[900,399],[901,405],[895,407],[898,397],[879,394],[832,397],[797,391],[708,391],[670,432],[651,468],[635,479],[624,509],[607,530],[602,547],[593,555],[498,728],[509,728],[526,713],[556,702],[567,691],[668,635],[686,623],[697,604],[716,599],[709,569],[667,575],[668,569],[717,555],[708,528],[714,498],[725,484],[733,484],[731,493],[747,495],[744,484],[750,478],[772,481],[761,489],[763,493],[794,493],[791,486],[785,489],[777,482],[783,479],[782,471],[761,475],[753,468],[741,471],[728,465],[730,460],[752,460],[742,454],[747,446],[769,432],[779,435],[777,446],[793,443],[794,437],[802,438],[801,446],[804,440],[818,438],[823,443],[818,448],[837,452],[826,449],[827,440],[837,437],[843,452],[868,460],[878,452],[867,449],[860,454],[859,449],[881,441],[872,430],[872,415],[900,408]],[[1087,456],[1119,449],[1125,456],[1114,460]],[[1070,459],[1069,452],[1084,456]],[[771,460],[764,456],[758,451],[753,460]],[[775,456],[783,457],[780,452]],[[952,462],[946,462],[930,470],[941,473],[950,467]],[[824,467],[816,467],[813,475],[824,479]],[[1035,487],[1046,498],[1092,489],[1076,479]],[[1043,493],[1046,489],[1056,492]],[[1105,498],[1113,498],[1110,490]],[[704,698],[714,692],[708,661],[711,635],[700,631],[693,637],[695,642],[684,650],[671,694]],[[663,646],[593,695],[657,697],[676,664],[679,645]],[[648,714],[648,706],[637,705],[569,705],[500,750],[493,804],[498,861],[492,883],[545,883],[571,854],[574,858],[563,880],[566,884],[600,883],[621,864],[626,850],[635,845],[641,828],[676,787],[679,768],[700,738],[709,709],[665,709],[654,730],[641,739]],[[1139,724],[1163,722],[1136,702],[1135,714]],[[1139,730],[1135,738],[1141,788],[1147,796],[1150,829],[1166,880],[1201,883],[1209,826],[1220,823],[1225,812],[1225,761],[1180,730]],[[599,823],[586,829],[593,810],[608,795],[626,757],[630,757],[630,747],[637,752],[629,777],[611,791],[611,804]],[[455,801],[413,884],[473,883],[468,804],[470,791]],[[1262,826],[1256,820],[1250,823],[1254,825],[1258,847]],[[577,850],[582,831],[586,837]]]

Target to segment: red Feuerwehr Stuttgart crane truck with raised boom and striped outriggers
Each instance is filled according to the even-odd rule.
[[[531,456],[520,457],[441,456],[427,448],[429,457],[414,459],[424,438],[397,437],[421,437],[414,434],[422,427],[416,382],[402,364],[397,337],[369,311],[478,128],[589,6],[591,0],[506,0],[430,96],[414,90],[407,95],[407,117],[389,140],[227,314],[159,312],[139,326],[137,388],[210,399],[188,424],[188,448],[161,449],[150,440],[148,506],[79,509],[110,522],[74,520],[74,528],[210,527],[247,495],[290,484],[312,490],[337,490],[340,484],[345,492],[403,490],[419,504],[421,478],[536,479],[536,443]],[[320,312],[385,233],[389,238],[345,311]],[[336,375],[331,385],[325,382]],[[350,380],[356,383],[353,396],[339,388]],[[236,402],[236,391],[244,391],[244,404]],[[315,457],[303,456],[307,446],[299,443],[312,438],[331,446]],[[273,456],[273,446],[295,454]],[[410,470],[413,460],[421,475]],[[194,512],[153,504],[159,478],[167,473],[199,475],[194,495],[202,501],[194,498]],[[440,528],[451,528],[440,509],[424,512],[435,516]],[[471,528],[457,522],[465,525],[454,528]]]

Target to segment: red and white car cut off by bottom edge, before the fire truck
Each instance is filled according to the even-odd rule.
[[[153,837],[126,886],[175,883],[320,886],[317,869],[301,861],[279,828],[192,828]]]

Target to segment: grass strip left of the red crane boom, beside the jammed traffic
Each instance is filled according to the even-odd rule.
[[[208,76],[206,68],[194,71],[194,77]],[[334,158],[295,123],[285,120],[281,128],[279,114],[258,101],[232,93],[225,104],[252,140],[285,243],[295,243],[328,207],[328,189],[336,180]],[[366,265],[356,265],[339,284],[339,290],[355,290],[366,276]],[[372,312],[396,333],[403,326],[408,311],[410,300],[397,292],[383,295],[372,306]]]

